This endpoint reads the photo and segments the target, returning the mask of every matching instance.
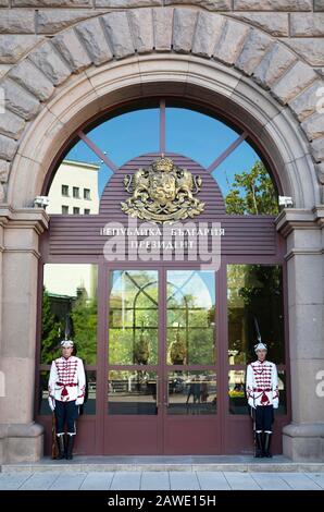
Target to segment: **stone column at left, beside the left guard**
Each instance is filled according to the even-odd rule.
[[[42,209],[0,207],[0,462],[36,461],[42,427],[34,422],[39,235]],[[1,325],[1,322],[0,322]],[[1,391],[1,390],[0,390]]]

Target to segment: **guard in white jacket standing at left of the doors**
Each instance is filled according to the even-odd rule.
[[[54,411],[57,420],[58,459],[72,459],[78,406],[85,400],[84,364],[79,357],[72,355],[73,348],[74,343],[71,340],[61,342],[62,357],[52,362],[48,386],[49,405]]]

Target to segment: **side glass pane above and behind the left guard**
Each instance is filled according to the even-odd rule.
[[[97,265],[45,265],[41,364],[61,355],[60,342],[65,338],[74,340],[74,354],[85,364],[96,364],[97,281]]]

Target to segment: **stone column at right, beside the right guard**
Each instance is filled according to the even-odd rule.
[[[324,206],[283,210],[277,230],[287,239],[292,407],[291,424],[283,431],[284,454],[323,462]]]

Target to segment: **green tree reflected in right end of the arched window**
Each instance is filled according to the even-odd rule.
[[[278,214],[277,194],[273,181],[261,160],[250,171],[235,174],[225,204],[229,215]]]

